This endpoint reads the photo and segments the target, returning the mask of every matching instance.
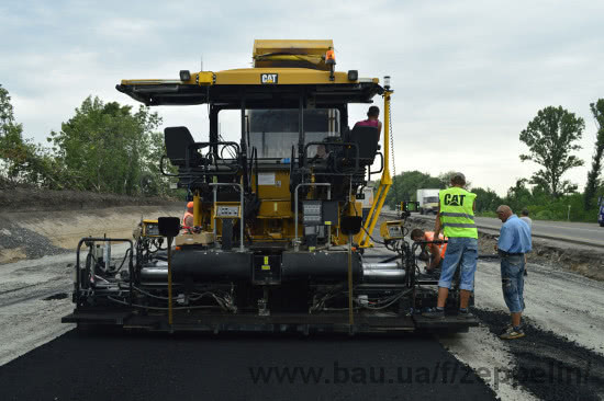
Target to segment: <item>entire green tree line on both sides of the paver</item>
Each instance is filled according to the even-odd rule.
[[[540,219],[567,219],[570,211],[571,220],[593,221],[596,199],[604,195],[604,99],[591,103],[590,110],[597,135],[583,193],[563,180],[563,174],[584,164],[573,152],[580,149],[585,123],[561,106],[549,106],[540,110],[518,137],[528,149],[519,156],[521,161],[534,161],[539,170],[530,177],[517,179],[503,198],[491,188],[469,183],[478,194],[478,211],[492,214],[500,204],[507,204],[516,211],[528,208]],[[133,110],[89,96],[59,131],[48,135],[44,147],[24,138],[9,92],[0,85],[0,187],[26,184],[131,196],[175,195],[159,172],[165,153],[163,135],[157,131],[160,124],[159,115],[146,106]],[[394,208],[401,200],[415,200],[418,188],[445,188],[449,175],[402,172],[394,176],[385,202]]]

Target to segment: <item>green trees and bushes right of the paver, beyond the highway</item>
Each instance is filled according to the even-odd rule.
[[[548,106],[537,112],[518,139],[528,148],[519,154],[521,161],[533,161],[539,165],[530,177],[519,177],[500,197],[491,188],[468,186],[477,197],[477,211],[493,216],[499,205],[506,204],[515,211],[528,209],[530,216],[544,220],[595,221],[597,199],[604,195],[602,162],[604,157],[604,99],[590,104],[596,125],[596,140],[592,165],[588,172],[585,190],[579,193],[578,185],[563,179],[570,169],[584,164],[574,151],[581,149],[585,122],[562,106]],[[394,208],[401,200],[416,200],[418,188],[445,188],[449,185],[449,173],[430,176],[420,171],[404,171],[393,179],[385,199]]]

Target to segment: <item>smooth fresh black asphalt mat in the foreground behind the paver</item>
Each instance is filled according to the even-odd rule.
[[[495,399],[436,340],[417,334],[74,330],[0,367],[0,389],[3,400]]]

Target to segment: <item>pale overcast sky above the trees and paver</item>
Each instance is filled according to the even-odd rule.
[[[0,84],[25,136],[44,141],[86,96],[133,104],[121,79],[249,67],[255,38],[332,38],[338,70],[392,76],[396,171],[459,170],[504,195],[537,167],[518,135],[537,111],[585,119],[582,188],[604,98],[604,1],[2,1]],[[376,99],[381,105],[381,99]],[[351,108],[350,123],[367,106]],[[203,106],[156,107],[208,135]],[[222,126],[236,138],[236,125]],[[233,133],[231,133],[233,131]]]

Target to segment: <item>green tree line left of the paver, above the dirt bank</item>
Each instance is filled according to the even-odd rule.
[[[44,147],[24,138],[9,92],[0,85],[0,186],[170,195],[158,167],[160,124],[148,107],[133,110],[89,96],[59,131],[49,133]]]

